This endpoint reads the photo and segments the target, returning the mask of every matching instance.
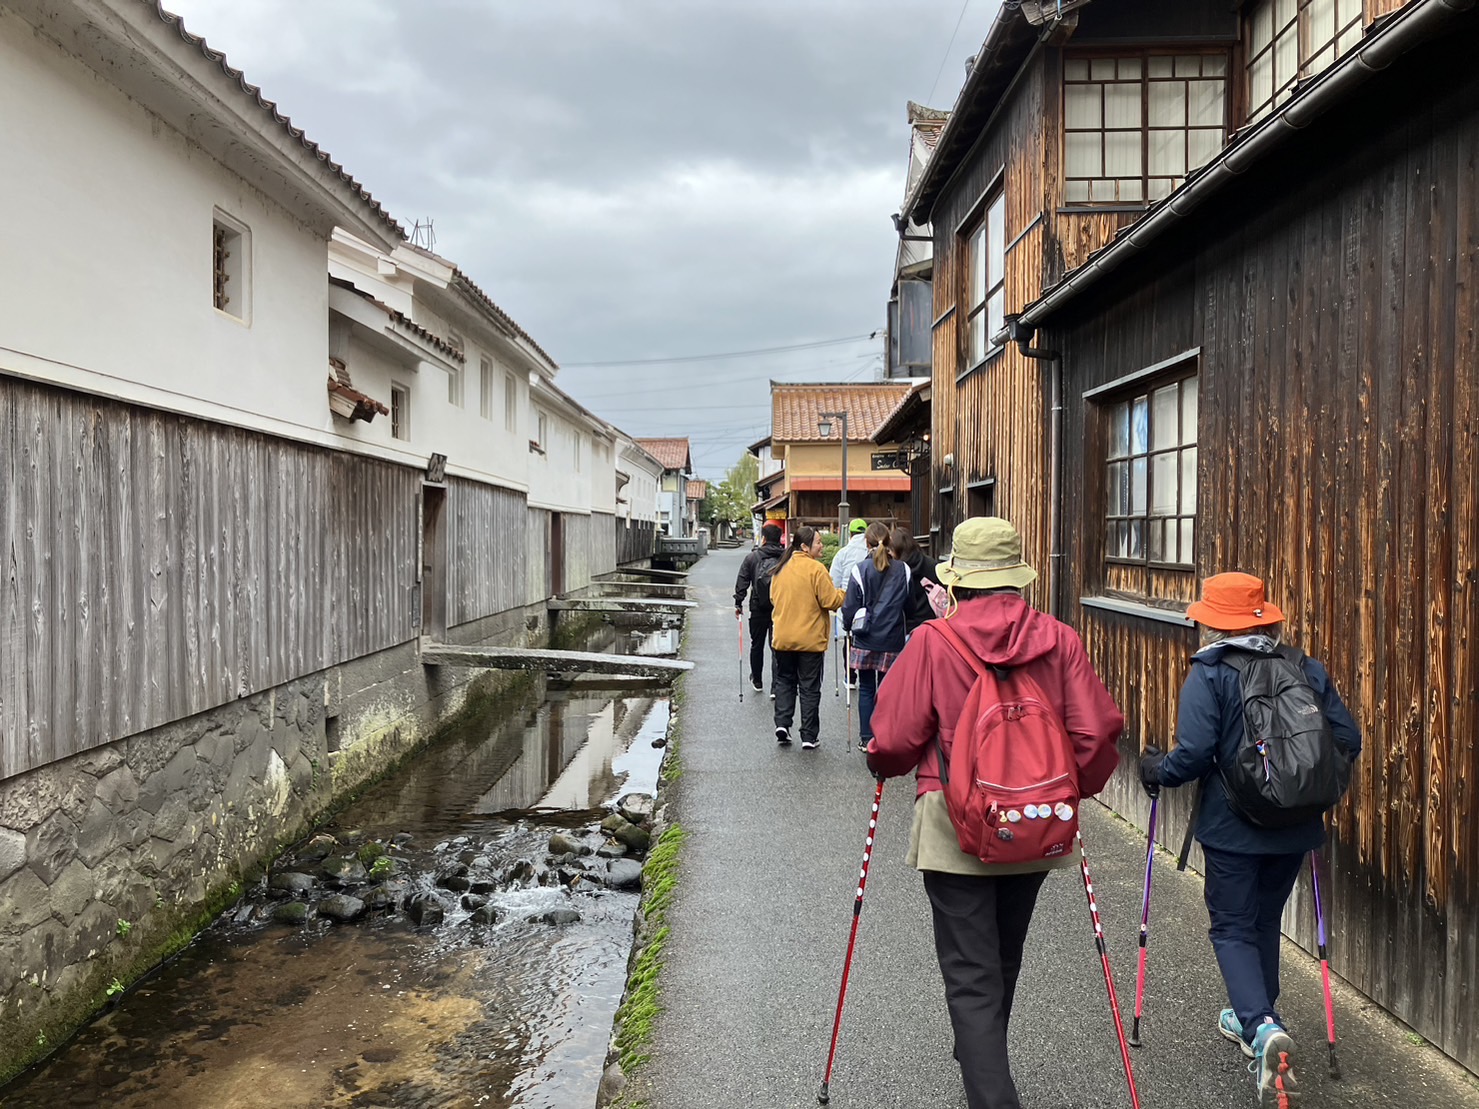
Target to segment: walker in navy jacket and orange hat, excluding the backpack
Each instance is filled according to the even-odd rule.
[[[1205,901],[1211,945],[1228,986],[1229,1008],[1217,1031],[1253,1059],[1260,1105],[1278,1106],[1296,1090],[1294,1044],[1279,1016],[1279,920],[1304,856],[1325,841],[1324,818],[1288,828],[1260,828],[1228,800],[1219,766],[1236,759],[1242,744],[1242,696],[1229,651],[1268,654],[1278,643],[1284,614],[1265,597],[1260,578],[1216,574],[1202,583],[1201,600],[1186,609],[1201,631],[1176,716],[1170,754],[1146,748],[1140,781],[1155,797],[1162,785],[1202,782],[1197,841],[1205,856]],[[1361,730],[1336,692],[1325,667],[1303,657],[1304,677],[1325,710],[1336,744],[1355,762]]]

